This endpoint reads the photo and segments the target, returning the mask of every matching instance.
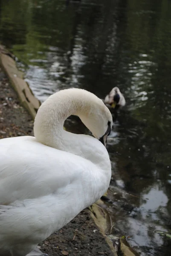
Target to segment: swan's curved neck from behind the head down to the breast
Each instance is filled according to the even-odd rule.
[[[83,134],[64,131],[64,121],[68,116],[77,115],[81,119],[91,113],[90,102],[80,93],[55,93],[51,95],[38,110],[34,123],[36,140],[62,151],[84,157],[108,172],[111,169],[109,155],[99,140]],[[76,98],[75,98],[76,97]]]

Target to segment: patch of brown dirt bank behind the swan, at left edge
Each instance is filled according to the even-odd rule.
[[[0,139],[33,135],[33,120],[0,68]]]

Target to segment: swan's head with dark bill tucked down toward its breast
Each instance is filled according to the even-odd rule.
[[[93,93],[85,91],[84,97],[87,103],[84,112],[78,114],[81,121],[92,132],[93,136],[106,146],[107,136],[112,130],[112,115],[103,101]]]

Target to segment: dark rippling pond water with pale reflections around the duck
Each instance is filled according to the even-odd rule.
[[[112,233],[141,256],[169,256],[155,231],[171,230],[171,1],[1,0],[0,42],[41,101],[68,87],[124,93],[108,140]]]

